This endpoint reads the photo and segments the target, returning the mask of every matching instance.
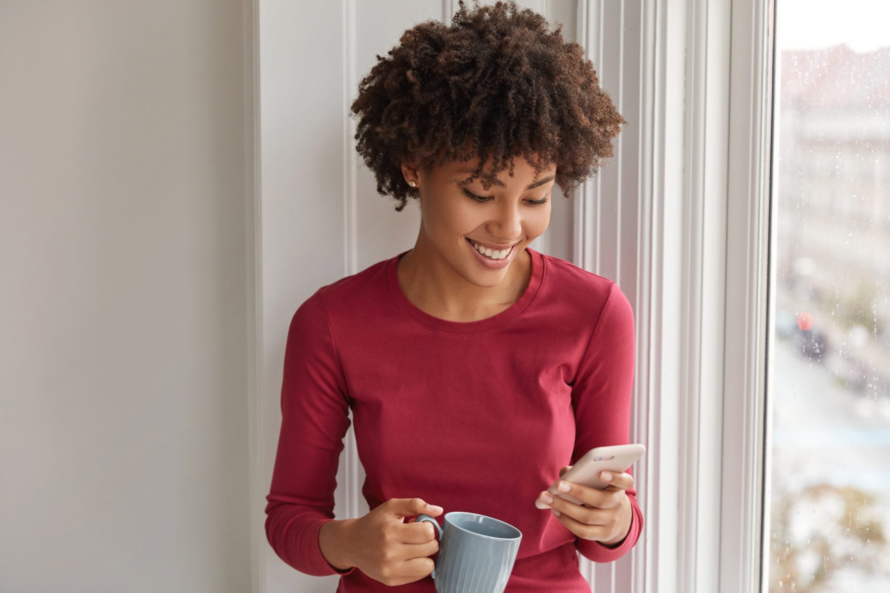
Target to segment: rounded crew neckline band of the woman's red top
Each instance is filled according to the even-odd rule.
[[[411,250],[406,249],[398,255],[392,256],[392,258],[390,258],[390,260],[387,262],[387,288],[389,290],[390,296],[392,297],[392,301],[395,303],[396,307],[401,309],[401,311],[405,315],[411,317],[419,324],[425,325],[426,327],[429,327],[430,329],[433,329],[437,332],[488,332],[514,320],[516,317],[522,315],[522,312],[525,311],[525,309],[528,309],[531,305],[531,302],[534,301],[535,297],[538,296],[538,292],[540,291],[541,285],[543,284],[544,273],[546,271],[546,258],[541,253],[526,246],[525,251],[529,252],[529,255],[531,257],[531,275],[529,278],[529,284],[526,284],[525,290],[522,292],[519,300],[514,302],[507,309],[504,309],[497,315],[493,315],[491,317],[485,317],[484,319],[477,319],[475,321],[451,321],[449,319],[435,317],[433,315],[430,315],[429,313],[426,313],[423,309],[419,309],[417,305],[408,300],[408,297],[405,296],[404,292],[401,292],[401,286],[399,285],[399,260],[401,260],[401,257],[409,251]]]

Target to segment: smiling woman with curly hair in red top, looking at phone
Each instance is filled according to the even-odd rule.
[[[434,591],[421,514],[522,531],[506,591],[589,591],[579,551],[610,562],[643,527],[633,477],[584,505],[536,500],[581,455],[628,442],[634,317],[617,284],[528,245],[554,183],[571,190],[626,124],[562,26],[463,2],[409,29],[352,104],[377,190],[417,199],[417,242],[303,302],[287,334],[266,533],[337,591]],[[370,512],[334,519],[351,420]],[[439,505],[439,508],[427,506]]]

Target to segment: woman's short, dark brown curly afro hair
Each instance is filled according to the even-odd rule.
[[[377,192],[417,198],[402,163],[422,172],[446,160],[480,162],[471,179],[488,190],[514,156],[538,173],[556,165],[565,196],[612,156],[611,139],[627,124],[579,44],[565,43],[562,24],[549,31],[537,12],[514,0],[464,0],[446,26],[426,20],[405,31],[388,58],[359,84],[351,112],[359,116],[356,150],[374,172]],[[537,155],[537,157],[536,157]],[[483,166],[493,158],[490,172]]]

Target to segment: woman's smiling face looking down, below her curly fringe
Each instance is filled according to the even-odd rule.
[[[475,157],[447,162],[427,175],[414,169],[405,173],[420,188],[419,238],[425,240],[425,247],[438,252],[473,284],[493,286],[507,275],[513,260],[522,257],[525,246],[546,230],[556,167],[540,172],[534,181],[533,167],[516,156],[514,176],[498,173],[499,183],[485,191],[478,179],[466,181],[478,164]],[[489,169],[486,163],[485,170]],[[491,259],[470,241],[508,253]]]

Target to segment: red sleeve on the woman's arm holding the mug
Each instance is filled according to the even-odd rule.
[[[336,470],[351,424],[349,396],[320,292],[291,319],[281,383],[281,429],[266,496],[266,539],[301,573],[350,574],[321,554],[321,525],[334,519]]]

